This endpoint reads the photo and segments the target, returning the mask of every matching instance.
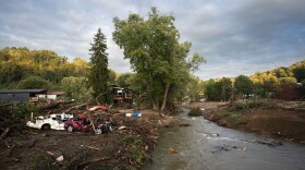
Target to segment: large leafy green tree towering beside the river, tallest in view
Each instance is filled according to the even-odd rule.
[[[196,60],[191,60],[194,63],[187,63],[191,42],[179,44],[180,34],[173,21],[172,15],[160,15],[156,8],[151,8],[147,20],[135,13],[127,20],[113,19],[113,40],[142,77],[138,83],[146,86],[155,110],[166,108],[171,88],[186,81],[190,69],[203,61],[197,54]]]

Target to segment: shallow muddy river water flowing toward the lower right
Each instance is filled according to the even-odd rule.
[[[305,170],[305,145],[282,141],[268,146],[261,143],[279,141],[188,118],[187,112],[158,139],[154,162],[144,170]],[[184,123],[191,126],[179,125]]]

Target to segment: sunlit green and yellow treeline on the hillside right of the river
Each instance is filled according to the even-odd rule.
[[[200,82],[202,92],[208,100],[229,100],[254,95],[264,98],[277,97],[284,85],[296,83],[303,84],[297,90],[304,96],[305,60],[288,68],[280,66],[251,76],[240,75],[234,78],[222,77]]]

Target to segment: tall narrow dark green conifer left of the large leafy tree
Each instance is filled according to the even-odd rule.
[[[91,44],[90,51],[90,72],[89,72],[89,84],[94,90],[94,97],[103,94],[98,100],[101,104],[108,102],[108,88],[107,82],[109,80],[108,71],[108,53],[106,52],[106,37],[98,28],[97,34],[94,37],[94,44]]]

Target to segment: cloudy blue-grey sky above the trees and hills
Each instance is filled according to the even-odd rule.
[[[89,61],[100,27],[107,37],[109,68],[131,72],[112,40],[113,17],[151,7],[175,17],[180,42],[192,41],[190,57],[207,59],[203,80],[252,75],[305,60],[305,0],[0,0],[0,48],[53,50],[72,61]]]

